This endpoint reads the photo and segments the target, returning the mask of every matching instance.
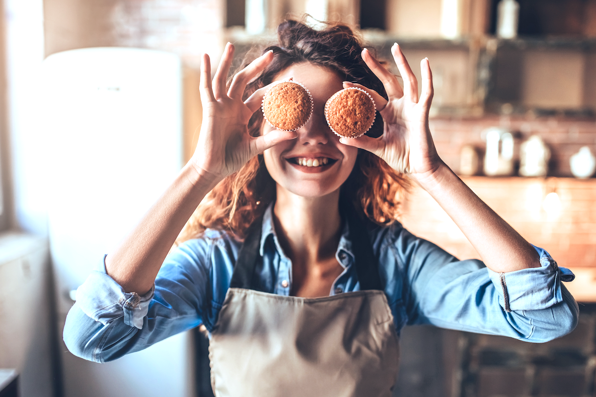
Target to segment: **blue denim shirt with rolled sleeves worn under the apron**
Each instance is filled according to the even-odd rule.
[[[578,304],[561,284],[575,276],[544,249],[536,248],[541,267],[495,273],[479,260],[457,260],[399,223],[369,235],[398,334],[406,324],[433,324],[546,342],[577,324]],[[348,236],[344,226],[336,251],[343,272],[330,295],[360,288]],[[228,233],[207,230],[168,255],[154,288],[142,296],[126,293],[105,273],[104,257],[77,289],[64,342],[73,354],[104,362],[200,324],[213,330],[240,246]],[[260,255],[254,285],[290,295],[292,265],[275,234],[272,206],[263,217]]]

